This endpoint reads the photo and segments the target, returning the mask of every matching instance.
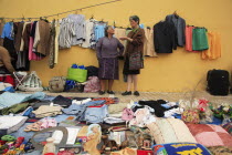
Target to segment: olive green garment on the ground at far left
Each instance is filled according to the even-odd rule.
[[[28,106],[29,106],[29,103],[20,103],[20,104],[12,105],[10,107],[2,108],[0,113],[2,115],[9,115],[10,113],[17,114],[24,111]]]

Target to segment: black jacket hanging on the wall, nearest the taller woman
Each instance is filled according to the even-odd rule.
[[[173,23],[160,21],[154,25],[154,44],[157,53],[172,53],[177,50]]]

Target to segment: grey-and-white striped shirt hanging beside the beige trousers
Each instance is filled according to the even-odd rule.
[[[64,18],[60,24],[59,45],[61,49],[67,49],[72,45],[72,39],[75,35],[74,22],[68,18]]]

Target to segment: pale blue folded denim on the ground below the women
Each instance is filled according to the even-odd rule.
[[[108,106],[87,107],[85,112],[85,121],[87,123],[103,123],[104,118],[108,116]]]

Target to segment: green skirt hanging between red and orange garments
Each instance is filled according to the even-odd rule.
[[[192,50],[203,51],[208,50],[208,38],[205,28],[194,28],[192,30]]]

